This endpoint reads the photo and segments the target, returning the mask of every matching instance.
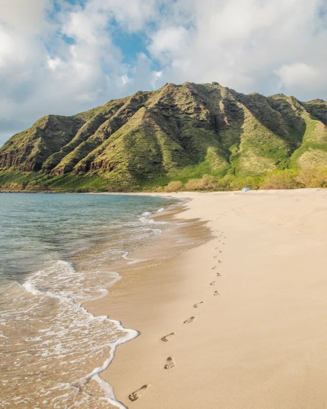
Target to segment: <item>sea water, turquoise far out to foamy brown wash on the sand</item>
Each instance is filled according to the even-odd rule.
[[[176,200],[89,194],[0,194],[0,406],[102,408],[100,373],[137,335],[80,303],[121,277],[112,261],[169,224],[151,214]]]

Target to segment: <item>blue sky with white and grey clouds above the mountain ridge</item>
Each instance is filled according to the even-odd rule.
[[[327,100],[327,0],[0,0],[0,145],[185,81]]]

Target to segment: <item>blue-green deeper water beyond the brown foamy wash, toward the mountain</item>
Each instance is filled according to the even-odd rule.
[[[0,277],[21,280],[43,262],[67,260],[116,236],[126,240],[112,252],[130,248],[143,234],[156,234],[141,215],[172,203],[147,196],[2,193]]]

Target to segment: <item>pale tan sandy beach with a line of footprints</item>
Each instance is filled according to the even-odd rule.
[[[201,219],[213,238],[88,306],[141,333],[102,373],[116,398],[135,409],[326,408],[327,190],[172,196],[191,199],[173,217]]]

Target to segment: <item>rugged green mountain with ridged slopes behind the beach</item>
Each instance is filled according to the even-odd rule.
[[[327,102],[167,83],[41,118],[0,148],[0,186],[137,190],[306,165],[327,166]]]

